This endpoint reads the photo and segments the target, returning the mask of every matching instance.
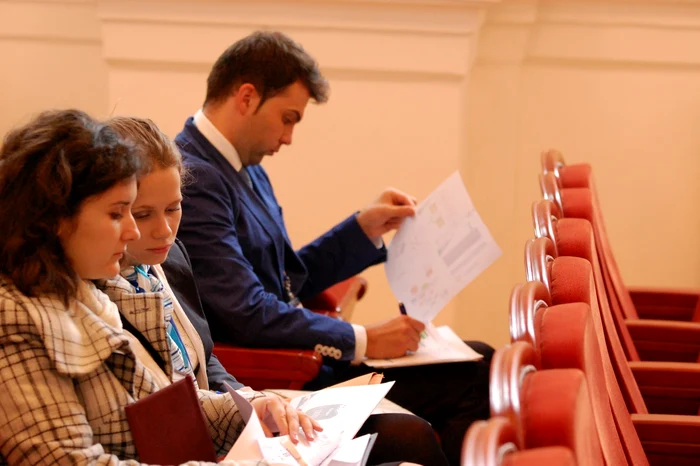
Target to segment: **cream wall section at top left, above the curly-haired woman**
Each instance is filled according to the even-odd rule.
[[[0,134],[54,107],[107,114],[107,67],[91,1],[0,1]]]

